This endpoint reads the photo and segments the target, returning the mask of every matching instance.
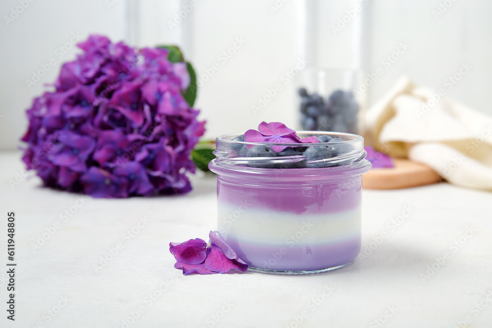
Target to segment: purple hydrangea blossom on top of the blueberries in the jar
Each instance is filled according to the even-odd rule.
[[[300,144],[300,143],[317,143],[315,136],[301,139],[297,136],[296,131],[288,128],[280,122],[261,122],[258,125],[258,131],[247,130],[245,132],[245,142],[251,143],[272,143],[272,144]],[[281,151],[287,146],[272,146],[275,151]]]

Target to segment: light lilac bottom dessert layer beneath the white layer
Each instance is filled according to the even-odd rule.
[[[352,262],[361,250],[361,237],[325,245],[266,246],[238,240],[226,242],[250,267],[271,270],[310,271]]]

